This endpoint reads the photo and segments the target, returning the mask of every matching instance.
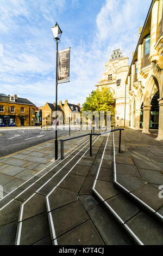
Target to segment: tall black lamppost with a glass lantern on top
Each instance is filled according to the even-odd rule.
[[[55,108],[56,108],[56,120],[55,120],[55,160],[58,159],[58,139],[57,139],[57,93],[58,93],[58,41],[62,31],[56,22],[55,26],[52,27],[52,32],[54,35],[54,41],[56,41],[56,83],[55,83]]]

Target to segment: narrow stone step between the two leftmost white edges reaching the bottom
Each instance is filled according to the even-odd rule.
[[[95,140],[95,138],[93,140]],[[77,157],[78,153],[82,152],[83,156],[85,155],[85,151],[88,151],[89,149],[89,145],[87,144],[89,143],[87,143],[86,140],[84,144],[79,147],[79,150],[71,154],[71,157],[68,156],[61,162],[58,161],[59,164],[56,165],[53,170],[46,176],[40,177],[40,180],[36,182],[37,184],[40,184],[39,189],[35,190],[35,193],[21,205],[15,245],[34,245],[39,242],[43,244],[46,237],[46,242],[50,243],[48,240],[50,233],[45,198],[52,189],[59,186],[60,181],[67,175],[68,171],[77,164],[79,160]],[[73,175],[72,177],[73,181],[74,178],[76,178],[76,181],[72,182],[75,184],[76,189],[78,183],[81,181],[83,182],[82,176],[77,177],[77,175]],[[65,190],[64,195],[61,193],[63,190]],[[59,192],[59,197],[62,195],[62,197],[66,199],[66,196],[68,195],[67,190],[61,189],[61,192]],[[74,192],[73,194],[76,197]],[[59,198],[59,201],[60,200],[61,199]],[[43,225],[41,223],[43,223]]]

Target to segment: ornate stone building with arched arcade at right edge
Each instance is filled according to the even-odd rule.
[[[163,140],[163,0],[153,0],[126,79],[125,124]]]

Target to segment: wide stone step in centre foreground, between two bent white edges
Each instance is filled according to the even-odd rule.
[[[105,137],[97,140],[96,156],[86,155],[71,170],[71,174],[66,177],[67,180],[62,181],[47,197],[53,245],[133,245],[133,241],[117,225],[115,219],[108,217],[106,210],[99,206],[92,196],[91,187],[105,140]],[[87,159],[91,159],[92,165],[87,162]],[[74,176],[77,178],[73,182]],[[79,182],[80,176],[86,177],[83,185]],[[77,184],[74,185],[74,183]]]

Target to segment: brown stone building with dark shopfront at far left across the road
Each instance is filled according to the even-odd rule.
[[[0,127],[35,126],[36,106],[28,99],[0,94]]]

